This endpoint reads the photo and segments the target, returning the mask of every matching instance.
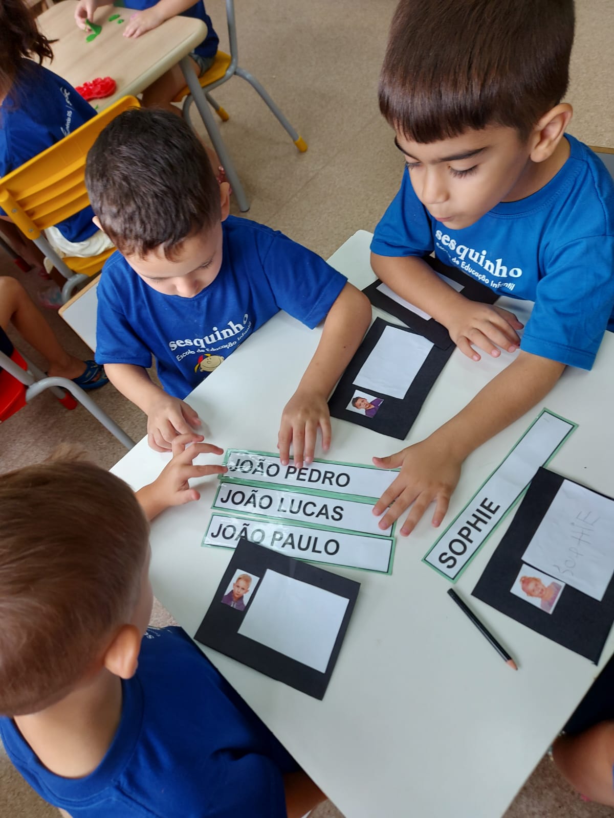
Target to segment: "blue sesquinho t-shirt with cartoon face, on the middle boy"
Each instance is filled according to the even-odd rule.
[[[311,250],[246,218],[222,222],[218,275],[194,298],[154,290],[115,252],[98,285],[96,360],[151,366],[185,398],[280,309],[310,329],[327,316],[346,278]],[[269,366],[275,366],[274,360]]]

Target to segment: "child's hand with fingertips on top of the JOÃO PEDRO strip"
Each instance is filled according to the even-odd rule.
[[[290,460],[290,444],[297,468],[302,468],[304,458],[307,465],[314,460],[318,426],[322,430],[323,451],[327,452],[331,445],[331,416],[326,398],[297,390],[283,410],[279,427],[278,449],[282,465],[287,465]]]

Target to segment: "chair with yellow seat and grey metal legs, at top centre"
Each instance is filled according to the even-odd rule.
[[[228,182],[230,182],[231,186],[233,187],[234,194],[237,196],[239,208],[245,212],[246,210],[250,209],[250,204],[245,195],[245,191],[243,190],[243,186],[237,176],[237,171],[234,167],[233,160],[231,160],[230,155],[228,155],[226,146],[223,143],[223,139],[219,133],[218,124],[215,122],[215,118],[211,114],[209,106],[204,104],[202,94],[198,94],[196,99],[193,96],[194,92],[198,89],[198,85],[200,84],[202,90],[205,92],[205,98],[210,103],[210,106],[217,111],[219,118],[225,122],[228,119],[228,114],[225,110],[223,110],[222,106],[219,106],[214,98],[211,97],[210,92],[213,91],[214,88],[218,88],[223,83],[228,82],[228,79],[233,77],[234,74],[237,74],[238,77],[242,77],[242,79],[245,79],[246,82],[250,83],[251,87],[260,94],[260,97],[262,97],[264,102],[269,106],[270,110],[277,117],[279,123],[282,124],[282,127],[285,128],[287,133],[290,134],[292,142],[294,142],[300,153],[305,153],[307,150],[307,143],[296,131],[296,129],[291,126],[286,117],[282,114],[282,111],[278,108],[275,102],[273,102],[273,99],[269,96],[269,93],[263,88],[259,81],[255,79],[255,77],[250,74],[249,71],[242,69],[238,65],[237,26],[235,24],[234,16],[234,0],[226,0],[226,16],[228,19],[228,41],[230,43],[230,54],[226,54],[221,51],[217,52],[215,55],[214,64],[211,65],[210,69],[205,71],[205,74],[198,79],[196,79],[193,72],[190,72],[187,65],[185,65],[184,74],[186,74],[188,85],[178,92],[178,95],[173,101],[181,102],[183,100],[183,116],[187,122],[190,121],[189,111],[192,101],[196,102],[196,107],[198,108],[202,120],[205,123],[205,128],[207,129],[207,133],[209,133],[209,137],[213,143],[215,152],[219,156],[219,160],[223,164],[223,168],[226,171]],[[183,60],[182,67],[184,67]]]

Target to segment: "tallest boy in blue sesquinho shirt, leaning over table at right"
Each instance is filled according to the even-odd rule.
[[[565,366],[590,369],[614,327],[614,186],[565,135],[573,0],[401,0],[381,70],[382,114],[407,172],[372,240],[377,276],[477,349],[514,360],[429,438],[376,465],[401,467],[373,511],[388,528],[412,503],[441,523],[465,458],[540,402]],[[522,339],[512,312],[474,303],[425,261],[535,301]],[[389,508],[390,506],[390,508]]]

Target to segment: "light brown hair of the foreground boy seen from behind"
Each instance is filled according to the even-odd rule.
[[[149,525],[126,483],[92,463],[0,476],[0,713],[70,692],[138,600]]]

